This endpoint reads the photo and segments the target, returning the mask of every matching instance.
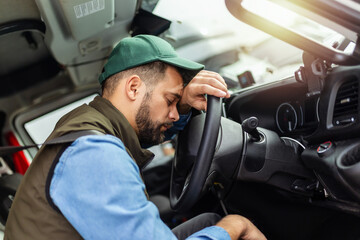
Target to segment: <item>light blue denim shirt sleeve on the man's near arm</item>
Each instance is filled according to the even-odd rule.
[[[139,168],[123,143],[110,135],[91,135],[64,151],[50,196],[84,239],[176,239],[144,189]],[[211,229],[189,240],[227,239],[211,237],[221,235],[221,229]]]

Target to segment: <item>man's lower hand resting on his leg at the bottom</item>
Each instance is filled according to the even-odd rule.
[[[227,215],[216,226],[224,228],[231,240],[266,240],[264,234],[254,224],[240,215]]]

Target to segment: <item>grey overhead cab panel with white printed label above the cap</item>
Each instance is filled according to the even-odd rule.
[[[113,46],[129,36],[140,0],[35,0],[45,43],[75,85],[97,82]]]

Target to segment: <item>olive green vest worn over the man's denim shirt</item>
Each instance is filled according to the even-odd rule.
[[[124,115],[102,97],[63,116],[48,139],[81,130],[97,130],[120,138],[140,169],[154,156],[141,148]],[[46,198],[46,180],[51,165],[64,147],[64,144],[47,145],[39,150],[16,192],[5,227],[5,240],[82,239]]]

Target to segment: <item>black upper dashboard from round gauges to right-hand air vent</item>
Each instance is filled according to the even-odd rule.
[[[359,82],[359,66],[334,68],[317,94],[290,77],[243,89],[226,102],[226,112],[239,123],[255,116],[260,127],[309,144],[360,137]]]

